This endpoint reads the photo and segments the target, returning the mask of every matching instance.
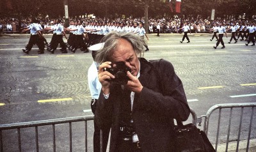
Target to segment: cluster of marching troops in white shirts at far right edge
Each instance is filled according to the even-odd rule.
[[[222,24],[221,25],[218,25],[218,24],[214,24],[211,31],[213,31],[213,36],[212,38],[210,39],[211,41],[214,39],[214,37],[217,39],[216,41],[220,42],[220,40],[218,40],[218,36],[217,36],[217,32],[220,31],[220,27],[223,26]],[[235,42],[234,43],[237,43],[237,40],[240,39],[240,41],[247,41],[247,43],[245,43],[246,46],[248,46],[248,44],[250,42],[252,42],[253,44],[252,45],[255,45],[255,40],[256,40],[256,25],[255,23],[253,22],[250,22],[250,23],[237,23],[237,24],[234,24],[232,23],[230,25],[230,27],[224,27],[224,33],[225,33],[225,30],[230,30],[231,33],[232,33],[232,36],[230,38],[230,41],[228,43],[231,43],[232,40],[234,39]],[[223,34],[223,33],[222,33]],[[236,38],[237,36],[237,38]],[[219,36],[220,38],[220,36]],[[225,45],[224,45],[224,42],[222,40],[222,37],[221,37],[221,45],[223,45],[223,47],[225,48]],[[216,46],[218,47],[218,45]],[[216,49],[216,48],[215,48]]]

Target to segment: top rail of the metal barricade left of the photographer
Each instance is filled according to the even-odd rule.
[[[12,123],[12,124],[4,124],[0,125],[0,130],[10,130],[16,128],[26,128],[33,126],[45,126],[45,125],[56,125],[60,123],[72,123],[77,121],[88,121],[93,120],[94,116],[78,116],[78,117],[70,117],[70,118],[60,118],[60,119],[47,119],[42,121],[30,121],[25,123]]]

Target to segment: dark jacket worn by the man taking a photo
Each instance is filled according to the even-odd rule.
[[[132,119],[141,148],[146,152],[172,151],[173,118],[186,121],[190,112],[182,82],[170,62],[144,58],[140,58],[139,80],[143,89],[134,96]],[[111,86],[108,100],[100,93],[97,103],[97,125],[111,126],[110,152],[116,149],[122,98],[122,87]]]

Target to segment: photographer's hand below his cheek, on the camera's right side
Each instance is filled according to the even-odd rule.
[[[127,76],[129,77],[129,80],[126,84],[126,86],[133,91],[134,93],[140,93],[143,86],[140,83],[140,80],[137,77],[134,77],[131,72],[127,72]]]

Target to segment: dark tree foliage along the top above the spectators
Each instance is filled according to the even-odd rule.
[[[12,1],[13,10],[6,15],[49,15],[50,17],[63,17],[63,1],[52,0],[8,0]],[[148,16],[163,17],[173,16],[169,8],[169,0],[68,0],[68,13],[71,17],[94,13],[100,17],[116,17],[125,15],[129,17],[143,17],[145,2],[148,1]],[[32,2],[32,3],[31,3]],[[172,0],[173,10],[175,10],[175,0]],[[255,0],[182,0],[181,14],[185,16],[201,15],[211,16],[211,10],[215,9],[216,16],[223,15],[243,15],[251,17],[256,15]]]

